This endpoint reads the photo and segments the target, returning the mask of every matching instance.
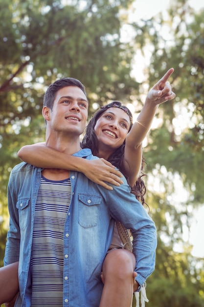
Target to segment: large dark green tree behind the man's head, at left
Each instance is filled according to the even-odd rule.
[[[131,1],[0,0],[0,216],[7,230],[9,172],[26,143],[43,141],[43,95],[51,82],[75,77],[97,106],[136,88],[132,50],[120,42],[119,10]],[[125,15],[123,15],[125,18]],[[5,230],[6,229],[6,230]],[[5,240],[4,240],[5,241]],[[4,242],[3,241],[3,242]],[[4,243],[3,243],[4,245]],[[3,248],[3,247],[2,247]]]

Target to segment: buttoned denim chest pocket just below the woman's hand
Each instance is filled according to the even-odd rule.
[[[98,223],[101,197],[79,194],[78,223],[84,228],[94,227]]]

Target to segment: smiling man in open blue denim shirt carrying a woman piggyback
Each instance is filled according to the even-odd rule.
[[[80,148],[88,116],[81,82],[63,78],[52,83],[43,116],[47,146],[96,158]],[[10,230],[4,264],[19,260],[15,306],[98,307],[114,219],[132,230],[136,281],[140,286],[145,282],[155,266],[156,228],[122,180],[124,184],[108,191],[82,173],[42,170],[24,162],[14,167],[8,184]]]

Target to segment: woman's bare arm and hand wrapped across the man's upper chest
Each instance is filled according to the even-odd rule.
[[[59,168],[83,173],[91,181],[102,185],[108,190],[122,184],[121,173],[105,159],[87,160],[47,147],[45,143],[23,146],[18,152],[21,160],[42,168]],[[106,181],[106,182],[104,182]]]

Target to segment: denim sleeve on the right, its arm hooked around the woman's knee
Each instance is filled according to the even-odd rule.
[[[136,256],[136,281],[142,285],[155,269],[157,231],[155,223],[130,193],[130,187],[123,177],[123,184],[107,191],[111,216],[120,221],[133,235],[133,253]]]

